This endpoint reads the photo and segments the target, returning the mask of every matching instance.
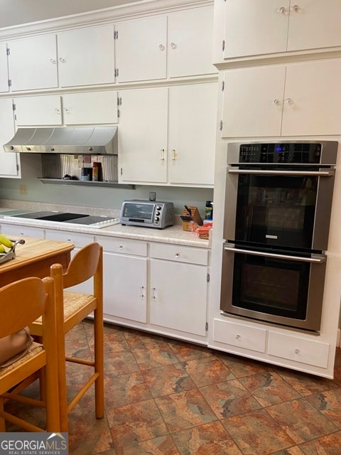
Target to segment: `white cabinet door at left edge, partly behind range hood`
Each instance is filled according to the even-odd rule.
[[[7,153],[2,148],[14,132],[13,100],[4,98],[0,100],[0,177],[18,176],[18,154]]]

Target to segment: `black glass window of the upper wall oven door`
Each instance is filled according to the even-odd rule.
[[[240,175],[235,240],[309,249],[318,177]]]

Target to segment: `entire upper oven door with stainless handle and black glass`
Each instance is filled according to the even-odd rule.
[[[334,171],[312,166],[229,166],[224,238],[293,250],[328,246]]]

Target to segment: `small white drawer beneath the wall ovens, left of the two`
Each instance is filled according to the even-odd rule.
[[[215,319],[214,322],[213,339],[219,343],[256,350],[259,353],[265,353],[266,349],[265,329],[219,319]]]

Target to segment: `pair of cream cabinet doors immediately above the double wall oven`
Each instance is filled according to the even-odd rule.
[[[222,137],[340,134],[340,80],[333,59],[228,70]]]

